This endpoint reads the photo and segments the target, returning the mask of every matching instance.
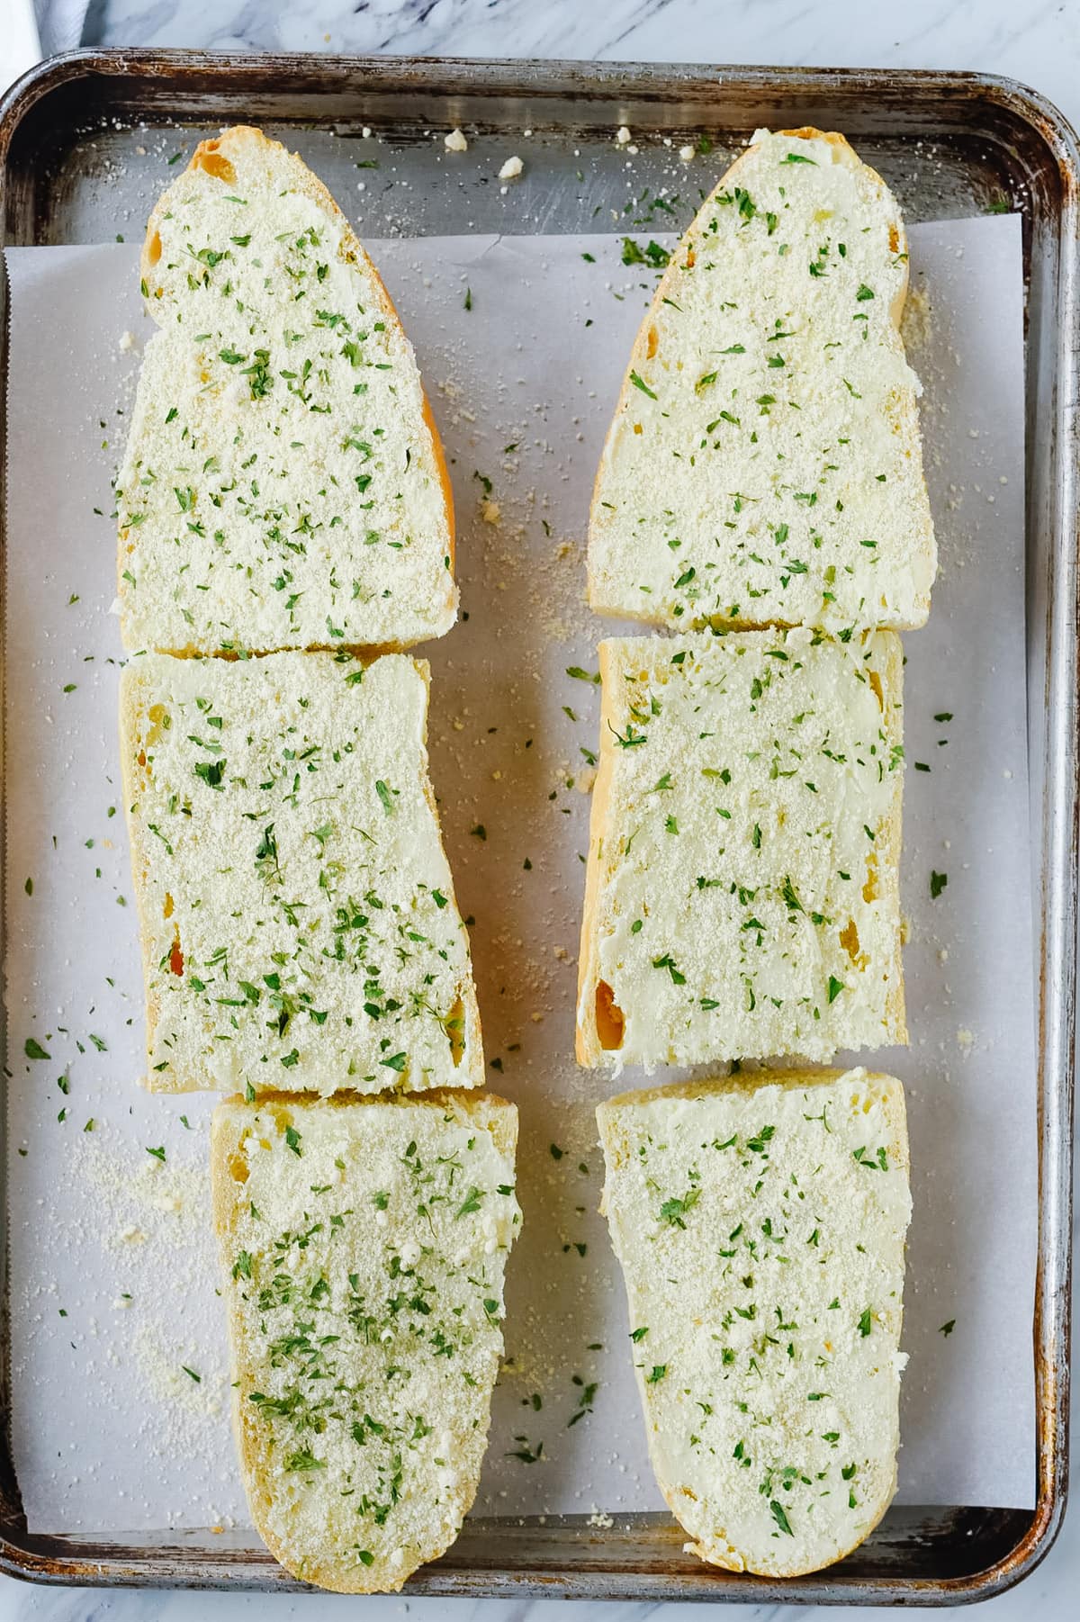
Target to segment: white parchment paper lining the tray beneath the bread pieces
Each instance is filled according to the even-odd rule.
[[[431,769],[459,902],[475,916],[490,1082],[522,1111],[525,1229],[509,1268],[508,1369],[477,1512],[603,1523],[662,1500],[595,1215],[592,1106],[616,1085],[572,1061],[584,751],[597,744],[598,694],[568,670],[595,670],[597,639],[616,629],[584,607],[584,524],[654,276],[621,263],[618,237],[371,248],[451,459],[465,613],[423,650]],[[131,247],[6,258],[18,1479],[34,1531],[246,1525],[208,1218],[212,1100],[149,1098],[136,1085],[141,978],[115,744],[120,641],[107,610],[110,477],[151,328]],[[916,225],[911,261],[908,344],[926,388],[942,574],[929,626],[906,637],[911,1048],[872,1059],[910,1088],[911,1362],[898,1495],[1031,1507],[1020,222]],[[931,871],[947,874],[936,899]],[[28,1041],[49,1058],[29,1058]],[[618,1085],[637,1080],[626,1071]]]

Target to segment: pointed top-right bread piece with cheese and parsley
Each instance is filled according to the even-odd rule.
[[[589,526],[598,613],[923,624],[937,560],[906,285],[897,201],[843,136],[759,130],[634,342]]]

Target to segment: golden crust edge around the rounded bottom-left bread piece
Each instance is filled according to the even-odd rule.
[[[498,1093],[465,1093],[454,1088],[435,1088],[430,1093],[391,1093],[379,1096],[368,1096],[358,1093],[331,1093],[319,1100],[303,1101],[303,1096],[295,1093],[263,1093],[255,1105],[248,1105],[240,1095],[232,1098],[224,1098],[214,1109],[211,1122],[211,1213],[214,1223],[214,1234],[217,1238],[219,1259],[222,1264],[222,1294],[227,1302],[227,1322],[229,1322],[229,1364],[230,1364],[230,1382],[232,1382],[232,1432],[237,1448],[237,1458],[240,1463],[240,1478],[243,1481],[243,1491],[248,1499],[248,1507],[251,1510],[251,1520],[255,1530],[284,1570],[292,1577],[305,1583],[315,1583],[319,1588],[326,1588],[329,1593],[337,1594],[384,1594],[397,1593],[412,1572],[417,1570],[417,1564],[430,1564],[446,1554],[451,1544],[457,1539],[461,1521],[472,1508],[477,1495],[478,1478],[462,1483],[462,1491],[456,1504],[456,1525],[444,1530],[438,1538],[433,1538],[426,1560],[417,1562],[412,1567],[389,1568],[379,1562],[373,1565],[357,1564],[355,1568],[349,1567],[342,1570],[332,1560],[319,1559],[298,1562],[290,1551],[276,1536],[269,1508],[272,1504],[272,1495],[269,1486],[258,1481],[258,1434],[255,1429],[255,1416],[251,1405],[243,1401],[242,1388],[246,1380],[250,1384],[250,1371],[243,1366],[238,1356],[237,1333],[235,1333],[235,1315],[232,1307],[232,1278],[225,1268],[225,1246],[234,1231],[234,1220],[237,1213],[237,1200],[234,1197],[234,1189],[237,1184],[229,1169],[229,1153],[234,1142],[232,1134],[232,1116],[234,1111],[240,1109],[258,1111],[258,1109],[282,1109],[290,1116],[303,1113],[305,1109],[355,1109],[355,1108],[425,1108],[425,1109],[446,1109],[456,1108],[462,1109],[467,1116],[475,1119],[478,1127],[485,1127],[491,1132],[496,1148],[499,1153],[506,1155],[511,1163],[517,1147],[517,1109],[506,1098]]]

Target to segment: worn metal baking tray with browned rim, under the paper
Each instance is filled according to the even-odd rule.
[[[524,128],[534,138],[519,191],[522,224],[543,232],[595,230],[611,221],[610,204],[624,198],[624,157],[611,141],[619,123],[670,136],[676,146],[704,135],[718,154],[733,151],[757,125],[843,130],[887,178],[910,221],[991,208],[1023,216],[1028,710],[1039,921],[1033,965],[1039,986],[1036,1508],[898,1505],[846,1560],[790,1581],[699,1564],[683,1554],[683,1533],[666,1515],[619,1517],[608,1530],[587,1525],[585,1517],[469,1520],[449,1554],[410,1578],[407,1593],[929,1606],[1009,1588],[1054,1541],[1069,1473],[1080,381],[1074,131],[1033,91],[975,73],[88,50],[36,68],[0,104],[2,243],[136,235],[152,198],[136,178],[138,164],[125,157],[148,133],[199,139],[237,120],[285,131],[342,195],[347,178],[355,185],[350,141],[363,125],[375,128],[409,182],[407,219],[394,191],[365,198],[365,229],[376,237],[503,229],[490,177],[508,138]],[[465,127],[470,139],[467,164],[454,170],[459,185],[449,185],[430,161],[431,128],[454,125]],[[645,144],[636,178],[662,183],[662,162],[655,143]],[[684,225],[691,211],[684,204],[684,217],[665,224]],[[0,300],[6,302],[6,287]],[[6,344],[6,310],[0,310],[0,334]],[[0,363],[6,371],[6,349]],[[0,478],[3,467],[0,454]],[[5,1277],[5,1416],[6,1299]],[[162,1530],[126,1541],[29,1533],[6,1426],[0,1437],[0,1568],[47,1583],[303,1586],[253,1533]]]

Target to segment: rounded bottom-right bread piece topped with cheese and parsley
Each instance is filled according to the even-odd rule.
[[[649,1452],[688,1549],[767,1577],[842,1559],[897,1486],[900,1082],[688,1082],[597,1121]]]

